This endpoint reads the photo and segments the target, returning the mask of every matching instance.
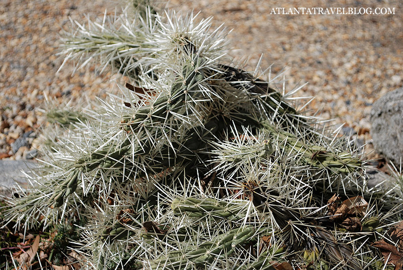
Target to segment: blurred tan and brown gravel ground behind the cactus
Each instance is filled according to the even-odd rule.
[[[372,103],[403,84],[403,2],[359,1],[240,1],[172,0],[175,10],[214,16],[214,25],[225,23],[246,69],[262,53],[262,67],[286,71],[286,88],[308,84],[298,96],[316,96],[309,109],[322,110],[333,123],[346,123],[370,142],[369,112]],[[341,4],[342,3],[342,4]],[[83,96],[104,97],[113,88],[94,68],[72,76],[68,63],[56,74],[61,59],[55,56],[61,27],[69,16],[80,22],[84,14],[113,13],[111,1],[22,1],[0,2],[0,159],[26,159],[40,147],[38,131],[44,117],[39,108],[46,100],[62,104]],[[303,6],[302,6],[303,5]],[[356,7],[395,8],[395,15],[274,15],[272,8]],[[106,74],[107,77],[107,74]],[[36,132],[35,132],[36,131]]]

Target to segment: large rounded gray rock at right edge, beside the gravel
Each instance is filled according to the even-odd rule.
[[[374,147],[393,163],[403,158],[403,88],[378,99],[371,110]]]

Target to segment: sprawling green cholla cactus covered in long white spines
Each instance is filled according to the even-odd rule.
[[[132,4],[64,37],[66,60],[130,82],[48,113],[16,227],[87,220],[82,269],[377,269],[399,185],[368,189],[361,150],[234,66],[211,18]]]

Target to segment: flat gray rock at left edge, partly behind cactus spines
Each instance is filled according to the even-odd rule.
[[[0,194],[6,194],[17,183],[25,186],[27,181],[22,171],[29,174],[37,166],[38,164],[32,161],[0,160]]]

